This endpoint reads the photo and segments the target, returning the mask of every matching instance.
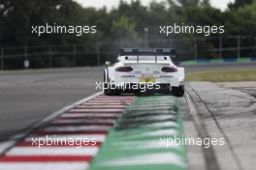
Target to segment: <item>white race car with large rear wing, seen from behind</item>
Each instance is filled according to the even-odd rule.
[[[184,68],[176,67],[172,59],[176,50],[123,48],[117,62],[106,62],[104,70],[104,93],[153,92],[184,95]]]

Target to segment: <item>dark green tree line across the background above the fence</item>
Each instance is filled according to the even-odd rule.
[[[82,8],[73,0],[0,0],[0,46],[94,43],[103,41],[141,41],[144,28],[148,40],[168,39],[159,35],[159,25],[225,25],[225,35],[255,35],[256,3],[252,0],[230,4],[232,10],[221,12],[210,7],[208,0],[152,1],[144,7],[140,0],[130,4],[120,1],[117,8]],[[31,34],[31,25],[97,25],[97,34]],[[192,37],[194,35],[187,35]]]

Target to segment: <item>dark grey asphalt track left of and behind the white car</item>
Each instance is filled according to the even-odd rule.
[[[253,64],[187,66],[186,72],[255,69]],[[52,112],[88,97],[102,81],[103,68],[0,71],[0,140]]]

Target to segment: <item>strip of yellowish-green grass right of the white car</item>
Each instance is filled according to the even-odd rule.
[[[186,73],[187,81],[256,81],[256,70],[204,71]]]

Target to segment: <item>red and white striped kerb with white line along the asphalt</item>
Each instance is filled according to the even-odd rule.
[[[59,169],[61,167],[62,170],[75,170],[75,169],[83,169],[86,170],[89,167],[88,161],[91,161],[91,158],[95,156],[99,150],[100,145],[96,146],[83,146],[83,145],[75,145],[72,147],[67,146],[50,146],[45,147],[42,145],[41,148],[36,146],[30,146],[27,142],[35,142],[35,139],[38,143],[39,140],[43,141],[90,141],[93,139],[95,142],[104,142],[106,134],[97,134],[97,132],[93,131],[109,131],[112,126],[109,125],[69,125],[69,126],[51,126],[50,123],[54,124],[56,122],[78,122],[86,123],[88,121],[97,120],[97,118],[101,118],[99,122],[111,122],[115,120],[114,118],[118,117],[119,112],[122,112],[125,108],[126,104],[115,104],[108,106],[108,99],[112,99],[111,97],[100,96],[102,92],[94,94],[88,98],[80,99],[71,105],[68,105],[59,111],[56,111],[49,115],[47,118],[39,121],[31,128],[23,131],[22,133],[14,136],[13,143],[7,143],[8,148],[11,148],[8,152],[3,156],[2,161],[0,161],[0,169],[2,170],[53,170]],[[102,105],[99,105],[100,108],[96,106],[84,105],[82,108],[78,108],[80,104],[83,104],[90,99],[103,99]],[[115,98],[115,99],[125,99],[123,98]],[[122,101],[119,101],[121,103]],[[131,100],[133,101],[133,100]],[[89,102],[88,102],[89,103]],[[97,102],[99,104],[99,102]],[[130,102],[129,102],[130,103]],[[104,106],[107,105],[108,107]],[[118,107],[117,107],[117,106]],[[128,104],[127,104],[128,105]],[[84,107],[84,109],[83,109]],[[105,108],[106,107],[106,108]],[[119,108],[120,107],[120,108]],[[80,114],[72,113],[72,111],[80,111]],[[87,113],[88,112],[88,113]],[[112,112],[118,112],[112,113]],[[94,114],[93,114],[94,113]],[[64,116],[60,116],[63,114]],[[82,116],[82,117],[80,117]],[[58,118],[57,118],[58,117]],[[81,119],[83,118],[84,119]],[[102,117],[106,117],[106,119],[102,119]],[[56,119],[57,118],[57,119]],[[80,118],[80,119],[79,119]],[[86,118],[86,119],[85,119]],[[112,118],[112,119],[110,119]],[[97,121],[96,121],[97,122]],[[45,128],[43,128],[46,126]],[[46,134],[40,133],[37,135],[37,131],[45,131]],[[74,134],[51,134],[51,132],[75,132]],[[92,134],[79,134],[81,131],[91,131]],[[33,133],[35,132],[35,133]],[[78,132],[78,134],[76,134]],[[49,134],[49,135],[48,135]],[[26,136],[26,137],[25,137]],[[15,146],[17,141],[22,142],[18,143],[19,145]],[[45,143],[45,142],[44,142]],[[12,144],[12,145],[11,145]],[[42,143],[41,143],[42,144]],[[57,143],[58,144],[58,143]],[[13,147],[13,148],[12,148]],[[6,149],[6,147],[4,147]],[[1,150],[1,145],[0,145]],[[66,156],[66,157],[65,157]],[[68,157],[67,157],[68,156]],[[69,157],[70,156],[70,157]],[[88,157],[86,157],[88,156]],[[64,158],[65,157],[65,158]],[[1,158],[1,157],[0,157]],[[43,158],[43,159],[42,159]],[[64,158],[64,159],[63,159]],[[68,159],[67,159],[68,158]],[[83,160],[84,158],[84,160]],[[45,161],[45,162],[41,162]]]

